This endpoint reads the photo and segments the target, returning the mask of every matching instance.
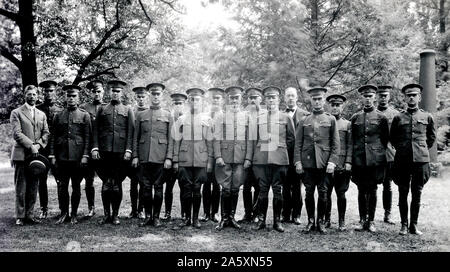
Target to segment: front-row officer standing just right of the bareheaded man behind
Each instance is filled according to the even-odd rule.
[[[305,232],[314,226],[325,233],[324,216],[327,207],[327,192],[330,178],[339,163],[340,140],[336,118],[324,112],[326,88],[312,87],[312,114],[300,121],[295,132],[294,161],[298,174],[304,173],[306,212],[308,224]],[[317,220],[315,219],[314,191],[318,190]]]

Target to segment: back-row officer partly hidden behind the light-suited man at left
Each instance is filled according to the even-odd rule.
[[[36,106],[37,109],[43,111],[45,113],[45,116],[47,116],[48,129],[50,131],[50,134],[53,133],[53,117],[56,113],[63,110],[63,108],[58,106],[56,103],[56,86],[57,83],[53,80],[45,80],[39,83],[39,87],[42,88],[42,91],[44,93],[44,102]],[[47,145],[40,151],[40,153],[45,157],[48,157],[50,153],[50,146]],[[55,179],[57,178],[55,177]],[[41,204],[41,213],[39,215],[39,218],[46,219],[48,212],[48,189],[47,176],[45,175],[39,179],[39,202]]]

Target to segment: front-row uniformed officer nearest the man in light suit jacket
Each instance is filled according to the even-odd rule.
[[[53,118],[53,134],[50,137],[50,162],[55,166],[58,177],[58,202],[61,215],[56,224],[69,220],[69,182],[72,180],[72,211],[70,222],[78,223],[77,211],[80,204],[80,183],[83,180],[82,167],[89,158],[91,117],[78,108],[81,87],[66,85],[67,108]]]

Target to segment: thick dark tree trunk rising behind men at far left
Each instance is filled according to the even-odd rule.
[[[37,85],[36,37],[34,36],[33,0],[19,0],[20,44],[22,53],[23,87]]]

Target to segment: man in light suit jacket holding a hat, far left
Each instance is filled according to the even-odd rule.
[[[13,129],[15,145],[11,152],[11,161],[14,165],[14,184],[16,191],[16,225],[24,223],[38,223],[33,218],[33,208],[36,202],[39,176],[33,175],[30,166],[31,160],[43,157],[39,150],[47,146],[49,130],[45,113],[36,109],[38,89],[28,85],[24,90],[25,104],[11,112],[10,123]],[[45,157],[43,160],[47,160]],[[38,167],[42,161],[35,162]],[[43,174],[46,176],[48,169],[44,164]]]

